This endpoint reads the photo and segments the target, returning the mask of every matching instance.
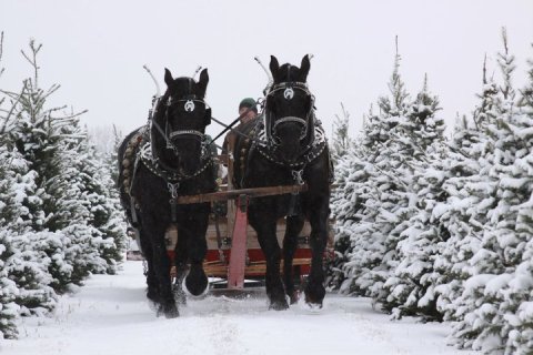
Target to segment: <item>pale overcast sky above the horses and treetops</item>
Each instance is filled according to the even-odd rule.
[[[54,100],[88,109],[90,126],[117,124],[125,134],[145,123],[154,93],[143,64],[162,85],[165,67],[174,77],[208,68],[207,100],[215,118],[231,122],[239,101],[259,98],[266,83],[254,55],[266,65],[270,54],[299,65],[313,53],[308,81],[319,118],[331,132],[343,102],[355,134],[370,104],[388,93],[398,34],[409,92],[416,94],[428,73],[440,114],[453,124],[477,102],[485,53],[497,75],[503,26],[520,88],[533,58],[532,0],[0,0],[0,87],[18,89],[31,74],[20,49],[34,38],[43,43],[41,83],[62,85]],[[220,130],[212,123],[209,132]]]

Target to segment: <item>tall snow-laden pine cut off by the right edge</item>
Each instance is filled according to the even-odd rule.
[[[487,213],[490,220],[480,250],[471,260],[473,275],[464,282],[463,292],[454,302],[456,314],[462,316],[454,335],[461,346],[486,353],[531,354],[531,339],[522,338],[531,332],[522,332],[527,324],[522,322],[532,318],[527,304],[532,301],[533,278],[531,274],[524,277],[530,270],[524,255],[529,254],[533,231],[533,121],[516,108],[511,84],[514,57],[509,54],[505,30],[502,34],[499,116],[495,124],[487,125],[495,138],[487,178],[496,184],[496,204]],[[521,323],[522,329],[515,329]]]

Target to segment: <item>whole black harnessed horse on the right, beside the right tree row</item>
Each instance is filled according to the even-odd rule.
[[[298,300],[292,261],[304,219],[312,227],[305,302],[321,307],[325,295],[322,257],[328,240],[332,170],[324,132],[314,115],[314,97],[306,84],[309,70],[308,55],[300,68],[289,63],[280,67],[276,58],[271,57],[273,84],[266,94],[263,114],[240,126],[233,150],[233,183],[238,187],[303,183],[309,187],[298,195],[252,199],[249,205],[249,221],[266,258],[266,294],[274,310],[288,308],[285,293],[291,303]],[[276,221],[283,216],[286,216],[286,231],[282,281],[282,253],[275,229]]]

